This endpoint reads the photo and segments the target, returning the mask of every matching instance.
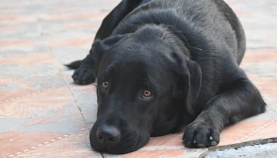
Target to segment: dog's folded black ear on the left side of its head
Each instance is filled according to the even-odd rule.
[[[114,35],[105,38],[105,40],[96,40],[95,42],[93,42],[91,47],[91,53],[93,54],[93,58],[96,60],[96,62],[100,63],[100,60],[102,59],[102,56],[105,54],[105,52],[111,49],[111,47],[114,46],[114,44],[118,43],[126,36],[127,34]]]

